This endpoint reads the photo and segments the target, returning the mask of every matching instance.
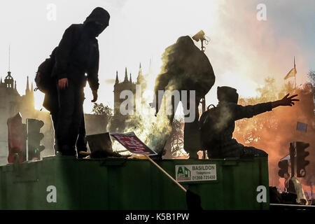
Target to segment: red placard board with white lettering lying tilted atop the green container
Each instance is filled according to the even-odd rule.
[[[158,155],[151,148],[148,148],[134,132],[125,134],[111,133],[111,136],[115,138],[120,144],[127,148],[130,153],[141,154],[141,155]]]

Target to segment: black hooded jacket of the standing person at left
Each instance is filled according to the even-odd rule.
[[[91,36],[85,30],[89,22],[98,22],[105,29],[109,25],[109,13],[104,8],[95,8],[83,24],[73,24],[64,31],[57,47],[52,76],[57,80],[68,78],[78,87],[83,87],[87,80],[92,90],[98,90],[99,45],[96,36],[104,29]]]

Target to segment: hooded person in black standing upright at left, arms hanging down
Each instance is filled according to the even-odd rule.
[[[55,145],[62,155],[75,155],[75,146],[77,151],[86,151],[83,88],[88,82],[93,94],[92,102],[96,102],[99,88],[96,37],[109,26],[109,18],[104,8],[95,8],[83,24],[73,24],[64,31],[55,50],[52,77],[57,85],[55,92],[45,96],[44,104],[50,105]]]

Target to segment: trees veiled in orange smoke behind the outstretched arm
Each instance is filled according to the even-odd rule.
[[[278,183],[279,176],[278,162],[288,155],[289,143],[293,141],[305,141],[310,144],[307,151],[310,155],[307,160],[310,164],[306,167],[307,176],[302,179],[302,183],[310,186],[314,185],[315,176],[315,129],[314,129],[314,71],[308,73],[310,83],[305,83],[294,88],[293,82],[283,84],[277,88],[274,78],[266,78],[265,84],[257,89],[258,96],[251,98],[240,98],[239,104],[253,105],[262,102],[271,102],[281,99],[286,94],[298,94],[297,102],[293,107],[278,107],[273,111],[262,113],[249,119],[237,120],[233,137],[244,144],[266,151],[269,155],[269,181]],[[297,122],[307,124],[307,132],[297,130]]]

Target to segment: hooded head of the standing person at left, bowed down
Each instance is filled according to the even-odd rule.
[[[90,36],[97,37],[109,26],[109,18],[109,12],[104,8],[97,7],[92,10],[92,13],[89,16],[87,16],[83,25]]]

